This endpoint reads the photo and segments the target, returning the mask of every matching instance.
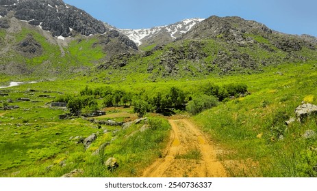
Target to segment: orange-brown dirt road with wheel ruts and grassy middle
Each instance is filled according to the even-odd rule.
[[[199,128],[189,119],[169,122],[173,131],[163,158],[149,166],[143,177],[227,177],[214,145]]]

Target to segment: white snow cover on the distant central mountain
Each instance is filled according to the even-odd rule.
[[[159,35],[160,33],[168,33],[170,38],[176,39],[183,33],[190,31],[194,25],[203,20],[203,18],[188,18],[172,25],[153,27],[150,29],[118,29],[118,31],[127,35],[130,40],[133,40],[136,44],[138,44],[138,46],[140,46],[142,44],[142,40],[149,39],[154,35]]]

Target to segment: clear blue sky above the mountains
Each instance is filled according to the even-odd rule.
[[[185,18],[240,16],[270,29],[317,37],[316,0],[64,0],[121,29],[169,25]]]

